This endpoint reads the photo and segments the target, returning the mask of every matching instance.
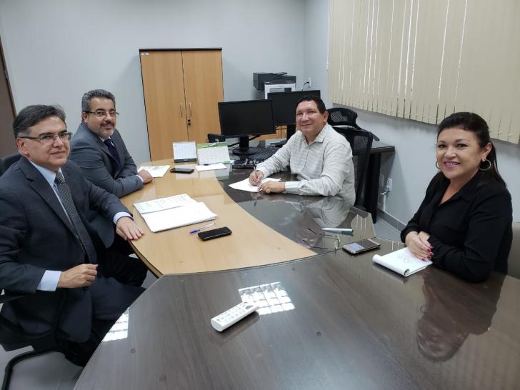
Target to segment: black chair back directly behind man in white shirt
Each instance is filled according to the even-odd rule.
[[[369,167],[370,151],[372,149],[372,134],[370,131],[357,130],[351,127],[334,127],[338,133],[343,134],[352,148],[352,162],[354,163],[354,187],[356,189],[356,206],[363,202],[363,186],[366,172]]]

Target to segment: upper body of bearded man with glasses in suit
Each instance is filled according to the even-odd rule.
[[[94,89],[81,99],[81,119],[71,141],[71,160],[87,179],[118,198],[143,188],[151,181],[146,170],[137,172],[119,131],[116,98]]]

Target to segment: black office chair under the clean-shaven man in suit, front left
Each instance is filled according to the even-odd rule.
[[[2,294],[0,296],[0,303],[4,304],[5,302],[13,301],[14,299],[23,299],[23,297],[24,295],[22,294]],[[63,303],[63,299],[61,302]],[[31,346],[33,348],[33,351],[24,352],[9,360],[6,364],[4,382],[2,383],[1,390],[9,389],[9,383],[11,382],[11,375],[13,374],[15,364],[25,359],[54,351],[56,348],[57,319],[60,311],[60,309],[56,311],[56,319],[53,327],[43,334],[26,334],[19,326],[0,316],[0,344],[5,351],[14,351],[15,349],[21,349],[26,346]]]

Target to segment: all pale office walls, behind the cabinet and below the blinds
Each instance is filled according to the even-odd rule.
[[[119,129],[136,161],[149,159],[139,48],[222,47],[224,99],[254,97],[254,71],[287,71],[298,85],[311,77],[326,105],[329,0],[1,1],[0,35],[16,109],[64,106],[80,120],[84,91],[114,92]],[[406,222],[434,168],[435,128],[359,112],[359,124],[396,146],[382,171],[394,180],[386,211]],[[520,221],[520,148],[495,141],[499,169]]]

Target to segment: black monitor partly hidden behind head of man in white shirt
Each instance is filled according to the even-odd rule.
[[[319,89],[307,91],[271,92],[267,99],[273,101],[274,124],[287,126],[287,139],[296,131],[296,105],[304,96],[321,97]]]

